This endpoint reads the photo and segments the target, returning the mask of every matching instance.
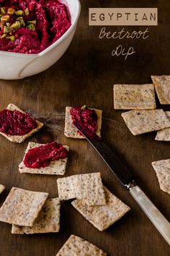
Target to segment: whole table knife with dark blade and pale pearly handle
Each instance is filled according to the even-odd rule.
[[[170,245],[170,223],[161,214],[161,212],[153,205],[153,202],[146,196],[142,189],[135,183],[133,175],[128,168],[120,161],[120,158],[112,151],[99,137],[91,138],[88,133],[82,129],[79,122],[74,122],[74,126],[81,132],[82,135],[90,142],[90,144],[97,150],[99,155],[111,171],[117,176],[122,185],[128,189],[130,195],[135,199],[140,208],[146,213],[159,233],[164,237],[166,242]]]

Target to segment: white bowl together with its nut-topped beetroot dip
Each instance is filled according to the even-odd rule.
[[[0,79],[52,66],[73,39],[79,0],[0,0]]]

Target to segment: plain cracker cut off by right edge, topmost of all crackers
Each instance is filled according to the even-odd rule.
[[[152,75],[151,79],[156,88],[161,104],[170,104],[170,75]]]

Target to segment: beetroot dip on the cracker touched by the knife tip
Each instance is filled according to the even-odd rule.
[[[79,125],[84,135],[89,139],[98,139],[97,136],[97,113],[94,109],[89,109],[86,106],[76,106],[70,110],[73,124]]]

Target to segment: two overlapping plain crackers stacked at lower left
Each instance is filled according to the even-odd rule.
[[[35,234],[60,230],[60,200],[46,192],[12,187],[0,208],[0,221],[12,224],[12,234]]]

